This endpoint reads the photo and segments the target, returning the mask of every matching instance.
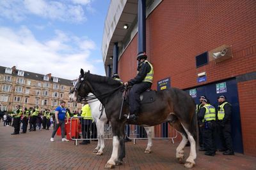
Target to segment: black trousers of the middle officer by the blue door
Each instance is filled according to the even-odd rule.
[[[204,148],[209,153],[216,152],[216,141],[215,141],[215,121],[205,122],[204,128]]]

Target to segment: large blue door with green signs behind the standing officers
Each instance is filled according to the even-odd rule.
[[[216,84],[220,85],[220,83],[225,85],[222,90],[216,90]],[[218,86],[217,85],[217,86]],[[235,152],[243,153],[243,140],[242,140],[242,132],[241,132],[241,118],[240,118],[240,108],[239,108],[239,101],[238,101],[238,94],[237,94],[237,81],[236,78],[228,79],[219,81],[216,83],[211,83],[208,85],[203,85],[200,87],[194,88],[196,89],[196,97],[193,96],[195,103],[198,104],[200,96],[206,96],[212,106],[216,109],[218,108],[218,101],[217,97],[225,95],[227,97],[228,103],[232,105],[232,140],[233,140],[233,147]],[[189,90],[186,92],[189,93]],[[218,92],[218,93],[217,93]],[[217,138],[217,146],[219,145],[219,141]]]

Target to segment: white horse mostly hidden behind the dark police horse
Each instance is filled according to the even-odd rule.
[[[93,94],[89,94],[89,96],[93,96]],[[96,155],[102,155],[103,149],[105,148],[104,127],[105,124],[108,122],[108,118],[106,116],[105,109],[104,107],[102,107],[102,104],[99,100],[95,100],[93,98],[89,98],[88,100],[92,111],[92,118],[95,121],[97,127],[98,144],[97,147],[93,150],[93,153],[96,153]],[[145,153],[150,153],[152,147],[152,131],[150,127],[144,127],[144,129],[147,132],[148,136],[148,144],[147,148],[145,149]]]

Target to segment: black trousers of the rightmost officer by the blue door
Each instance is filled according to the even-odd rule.
[[[231,124],[227,122],[227,124],[222,124],[221,121],[218,121],[218,134],[220,135],[220,141],[223,150],[234,151],[232,136],[231,136]]]

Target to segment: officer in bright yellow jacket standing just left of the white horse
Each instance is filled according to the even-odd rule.
[[[79,143],[80,145],[87,145],[90,143],[90,126],[92,124],[92,113],[91,108],[87,101],[85,101],[85,104],[82,108],[82,114],[81,114],[81,124],[82,124],[82,134],[83,134],[83,142]]]

